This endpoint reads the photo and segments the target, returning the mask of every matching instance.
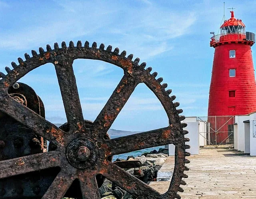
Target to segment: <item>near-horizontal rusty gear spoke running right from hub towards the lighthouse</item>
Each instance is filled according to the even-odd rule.
[[[110,148],[111,155],[118,155],[174,143],[176,139],[174,137],[174,131],[172,126],[169,126],[153,131],[105,140],[105,143],[108,145],[108,148]]]

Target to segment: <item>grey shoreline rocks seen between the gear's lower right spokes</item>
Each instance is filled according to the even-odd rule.
[[[151,181],[157,181],[157,172],[164,164],[168,157],[168,149],[154,150],[150,153],[143,153],[141,156],[128,156],[126,160],[138,160],[142,163],[140,168],[124,169],[126,172],[134,175],[146,184]],[[116,161],[124,161],[125,159],[116,159]],[[101,199],[136,199],[120,187],[116,186],[109,180],[105,180],[100,187]]]

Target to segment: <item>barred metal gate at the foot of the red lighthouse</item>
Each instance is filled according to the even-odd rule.
[[[199,145],[204,148],[234,148],[234,115],[197,117]]]

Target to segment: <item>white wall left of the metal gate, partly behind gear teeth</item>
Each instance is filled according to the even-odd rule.
[[[186,151],[190,152],[191,154],[199,154],[199,123],[194,120],[194,118],[189,117],[187,119],[186,117],[186,119],[182,121],[188,124],[186,128],[183,128],[184,130],[188,130],[188,134],[186,134],[185,137],[190,139],[190,141],[186,143],[190,145],[190,149],[186,149]],[[173,144],[169,145],[169,155],[175,155],[175,146]]]

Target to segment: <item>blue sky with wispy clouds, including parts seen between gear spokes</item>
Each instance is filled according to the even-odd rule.
[[[246,30],[256,33],[256,2],[225,1],[236,8]],[[88,40],[118,47],[139,57],[164,78],[186,116],[207,115],[214,48],[210,32],[218,32],[223,1],[0,0],[0,71],[24,53],[46,44]],[[230,18],[226,10],[226,18]],[[256,54],[252,47],[254,63]],[[122,78],[120,68],[95,60],[76,60],[74,72],[85,119],[94,120]],[[46,119],[66,121],[53,65],[46,64],[20,80],[42,98]],[[146,131],[165,127],[162,105],[145,85],[139,85],[112,128]]]

